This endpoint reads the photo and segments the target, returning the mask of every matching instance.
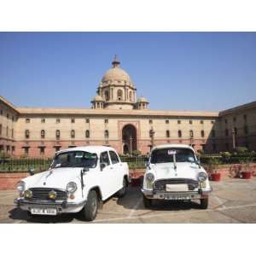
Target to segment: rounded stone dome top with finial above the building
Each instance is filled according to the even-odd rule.
[[[108,69],[108,71],[104,74],[102,77],[102,83],[108,83],[110,82],[119,82],[119,81],[125,81],[127,84],[132,84],[131,83],[131,78],[129,74],[119,67],[120,62],[117,60],[117,57],[114,57],[114,60],[112,62],[113,67]]]

